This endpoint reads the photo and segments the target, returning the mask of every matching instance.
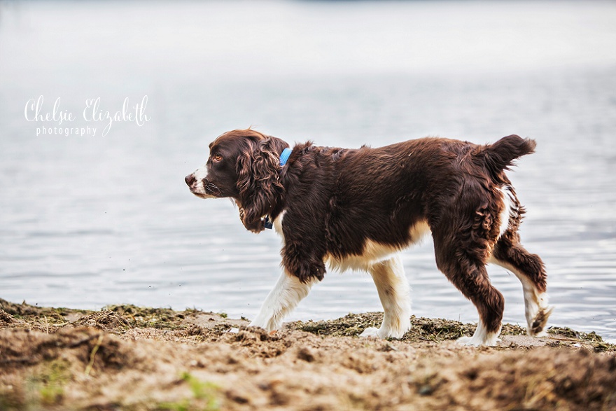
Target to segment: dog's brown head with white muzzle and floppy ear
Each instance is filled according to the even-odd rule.
[[[280,182],[280,153],[285,141],[255,130],[233,130],[209,145],[206,165],[186,176],[190,191],[202,198],[230,197],[239,207],[247,230],[260,232],[284,188]]]

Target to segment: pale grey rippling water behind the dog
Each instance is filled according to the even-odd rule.
[[[616,339],[616,4],[601,1],[0,2],[0,297],[98,309],[132,303],[255,316],[280,240],[253,235],[183,176],[226,130],[379,146],[426,135],[520,134],[510,173],[521,235],[549,273],[552,324]],[[97,127],[36,135],[29,99]],[[84,120],[148,96],[150,120]],[[476,321],[435,268],[405,251],[413,312]],[[498,267],[505,321],[519,281]],[[328,273],[290,319],[380,310],[366,274]]]

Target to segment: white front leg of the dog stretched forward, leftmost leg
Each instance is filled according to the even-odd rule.
[[[272,331],[280,328],[284,317],[293,311],[297,304],[310,292],[318,279],[302,283],[286,270],[281,274],[274,289],[267,295],[258,316],[250,323],[251,327],[261,327]]]

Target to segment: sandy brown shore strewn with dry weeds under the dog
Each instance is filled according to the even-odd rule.
[[[552,328],[413,318],[402,340],[356,337],[380,313],[266,333],[224,314],[100,312],[0,300],[0,410],[616,410],[616,347]]]

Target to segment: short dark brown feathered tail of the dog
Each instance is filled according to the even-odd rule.
[[[514,160],[522,155],[535,152],[537,142],[533,139],[523,139],[515,134],[496,141],[494,144],[482,146],[475,154],[477,160],[481,160],[490,174],[496,176],[509,169]]]

